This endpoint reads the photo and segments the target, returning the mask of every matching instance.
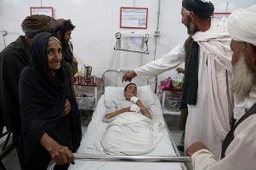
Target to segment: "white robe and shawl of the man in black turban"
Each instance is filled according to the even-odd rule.
[[[199,71],[196,105],[188,105],[185,127],[185,150],[201,141],[220,156],[222,140],[230,130],[232,112],[229,77],[231,71],[230,37],[227,32],[198,31],[193,36],[198,42]],[[150,77],[174,69],[185,62],[184,43],[169,54],[134,71],[138,76]]]

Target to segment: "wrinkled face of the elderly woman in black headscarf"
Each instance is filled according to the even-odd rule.
[[[56,40],[48,41],[47,56],[48,71],[54,76],[55,71],[59,70],[61,65],[62,49],[60,42],[57,42]]]

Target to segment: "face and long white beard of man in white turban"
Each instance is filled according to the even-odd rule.
[[[238,101],[247,98],[251,88],[255,84],[255,72],[250,69],[250,55],[247,54],[244,42],[231,41],[230,48],[233,51],[232,65],[233,77],[231,81],[232,91],[236,94]]]

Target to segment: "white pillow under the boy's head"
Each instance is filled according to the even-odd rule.
[[[105,87],[104,94],[104,102],[105,106],[108,107],[111,102],[118,102],[124,99],[123,96],[124,88],[118,87]],[[137,97],[141,100],[141,102],[149,107],[151,105],[155,105],[154,94],[150,86],[139,86],[137,87]]]

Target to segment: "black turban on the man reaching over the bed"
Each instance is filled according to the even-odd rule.
[[[193,11],[196,15],[202,18],[208,18],[213,14],[214,6],[209,1],[202,0],[183,0],[182,7],[189,11]]]

